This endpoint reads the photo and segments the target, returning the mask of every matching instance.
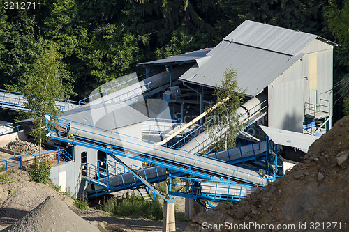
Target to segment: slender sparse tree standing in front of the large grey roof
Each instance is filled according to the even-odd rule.
[[[236,72],[227,68],[223,73],[221,85],[216,86],[213,93],[216,102],[221,104],[209,110],[206,119],[209,137],[216,141],[216,149],[224,150],[235,147],[235,139],[239,131],[239,114],[236,110],[244,99],[244,90],[237,86]],[[212,105],[207,107],[207,110]],[[223,143],[221,142],[223,141]]]

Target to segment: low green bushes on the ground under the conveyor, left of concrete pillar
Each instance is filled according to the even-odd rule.
[[[117,199],[104,200],[101,210],[111,214],[119,216],[128,215],[142,215],[147,219],[161,220],[163,218],[163,210],[158,200],[151,202],[144,201],[142,196],[135,196],[132,192],[131,196],[126,194],[126,199],[122,199],[121,202],[117,202]]]

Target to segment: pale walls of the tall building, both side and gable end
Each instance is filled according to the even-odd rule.
[[[301,52],[302,59],[268,86],[269,127],[302,132],[304,102],[329,100],[332,115],[333,47],[313,40]]]

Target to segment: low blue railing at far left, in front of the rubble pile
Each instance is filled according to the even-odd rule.
[[[24,155],[17,155],[15,157],[11,157],[7,160],[0,161],[0,170],[8,171],[8,169],[17,167],[22,169],[24,166],[29,166],[38,160],[39,153],[27,153]],[[48,150],[41,153],[41,158],[43,160],[48,160],[55,162],[57,160],[57,164],[60,162],[68,162],[73,160],[73,157],[66,152],[64,149],[59,150]]]

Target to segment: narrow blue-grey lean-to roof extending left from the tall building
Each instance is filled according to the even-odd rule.
[[[180,54],[177,56],[170,56],[165,59],[158,61],[149,61],[145,63],[138,63],[137,65],[164,65],[164,64],[174,64],[174,63],[186,63],[186,62],[195,62],[200,58],[207,57],[207,53],[211,51],[212,48],[205,48],[194,52],[187,52],[185,54]]]

